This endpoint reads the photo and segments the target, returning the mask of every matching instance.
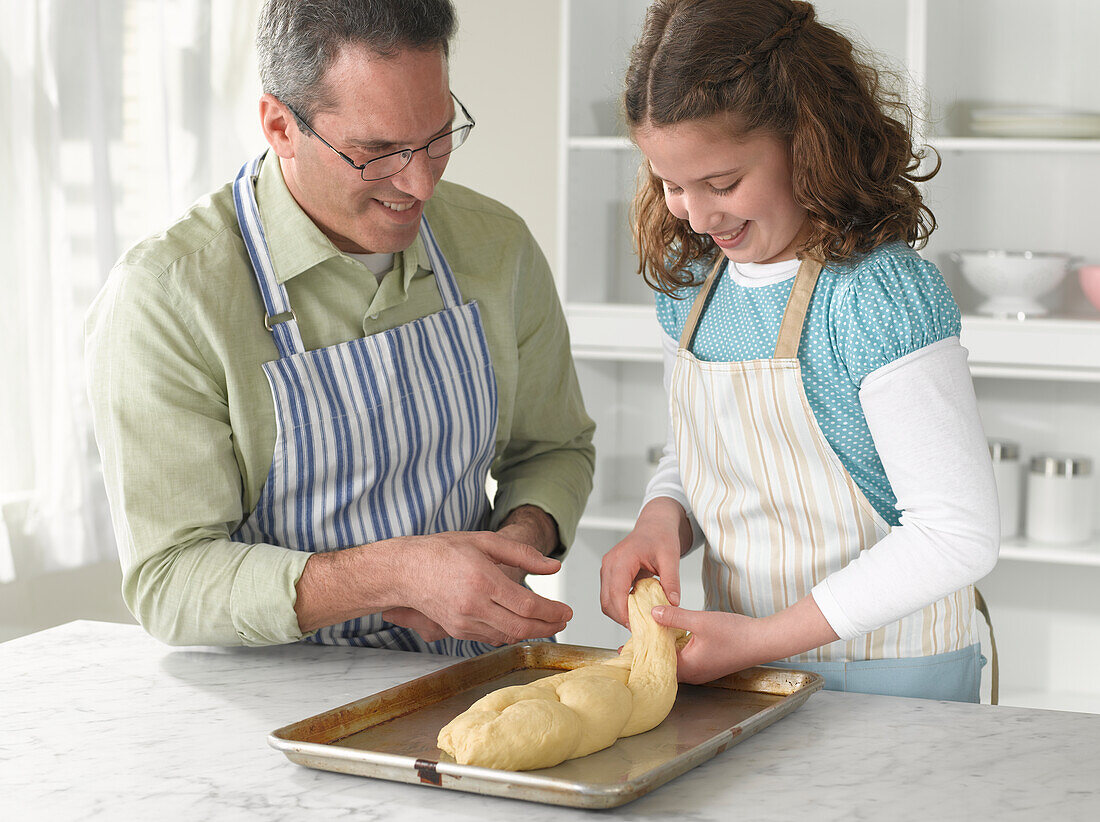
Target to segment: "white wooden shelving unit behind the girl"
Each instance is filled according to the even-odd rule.
[[[632,526],[664,439],[664,396],[652,296],[635,273],[627,215],[639,155],[617,116],[627,55],[646,0],[564,0],[562,11],[559,288],[590,413],[597,420],[595,489],[562,571],[581,605],[565,639],[612,645],[625,636],[598,613],[598,563]],[[1100,314],[1075,282],[1050,314],[982,317],[949,253],[1005,248],[1067,251],[1100,262],[1100,139],[1008,139],[968,132],[978,106],[1055,105],[1100,110],[1100,3],[1092,0],[828,0],[818,15],[883,55],[942,160],[927,185],[939,221],[923,251],[964,310],[988,434],[1093,458],[1100,470]],[[1100,511],[1100,481],[1097,509]],[[1100,516],[1097,525],[1100,527]],[[693,577],[694,574],[694,577]],[[697,567],[684,603],[701,606]],[[688,583],[693,581],[695,588]],[[1005,540],[981,588],[1001,651],[1001,702],[1100,711],[1100,534],[1057,548]]]

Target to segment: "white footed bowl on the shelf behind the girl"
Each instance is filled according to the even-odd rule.
[[[986,300],[979,314],[1037,317],[1047,314],[1038,298],[1065,280],[1074,257],[1044,251],[954,251],[963,276]]]

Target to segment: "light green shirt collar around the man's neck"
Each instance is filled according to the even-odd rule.
[[[286,283],[326,260],[342,256],[340,250],[317,228],[317,223],[309,219],[294,199],[290,189],[286,187],[278,156],[274,152],[267,152],[260,167],[256,201],[277,282]],[[278,228],[273,230],[272,227]],[[399,254],[399,257],[403,266],[402,292],[404,293],[408,291],[408,285],[418,267],[431,271],[431,261],[419,233],[413,245]]]

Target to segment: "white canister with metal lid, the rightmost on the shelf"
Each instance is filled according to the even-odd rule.
[[[1070,545],[1092,536],[1092,460],[1038,453],[1027,471],[1027,538]]]

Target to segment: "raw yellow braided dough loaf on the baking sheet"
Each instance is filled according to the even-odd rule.
[[[440,750],[462,765],[531,770],[661,724],[686,635],[653,622],[652,609],[668,604],[656,579],[638,580],[627,604],[630,639],[618,657],[482,697],[439,732]]]

